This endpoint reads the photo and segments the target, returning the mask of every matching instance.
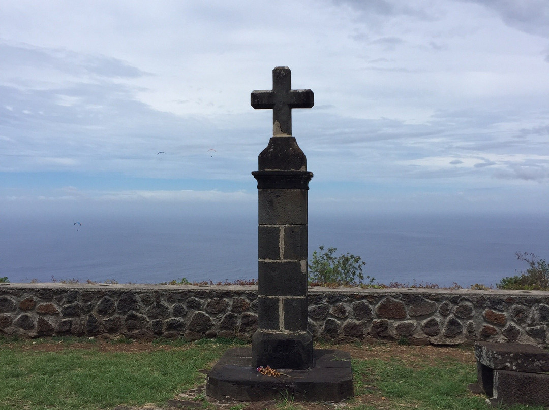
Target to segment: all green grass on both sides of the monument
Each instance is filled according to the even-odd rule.
[[[86,348],[75,348],[84,343]],[[131,341],[114,340],[113,344]],[[57,345],[58,351],[32,349],[36,344]],[[162,405],[178,393],[204,383],[206,369],[226,349],[243,344],[230,339],[157,340],[153,346],[167,349],[145,352],[105,352],[95,339],[0,338],[0,410],[112,409],[117,405]],[[41,346],[39,346],[41,347]],[[49,346],[45,346],[49,347]],[[131,347],[131,346],[130,346]],[[328,345],[322,346],[327,348]],[[357,346],[358,347],[358,346]],[[361,349],[371,349],[363,345]],[[476,380],[474,363],[440,358],[423,363],[393,356],[352,361],[357,398],[346,408],[377,410],[361,404],[360,396],[373,395],[390,408],[419,410],[485,410],[485,397],[475,396],[467,384]],[[203,398],[201,399],[203,400]],[[213,408],[203,401],[205,408]],[[244,410],[242,403],[232,410]],[[305,403],[287,397],[277,403],[280,410],[307,409]],[[383,407],[389,408],[389,407]],[[512,410],[525,410],[516,406]],[[541,409],[541,408],[539,408]],[[528,410],[538,410],[528,407]]]

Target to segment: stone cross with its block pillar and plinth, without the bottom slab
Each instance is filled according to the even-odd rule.
[[[312,107],[311,90],[292,90],[288,67],[273,70],[273,90],[251,93],[254,108],[273,109],[273,136],[252,172],[259,193],[258,329],[255,367],[312,366],[307,328],[307,190],[312,173],[292,136],[292,108]]]

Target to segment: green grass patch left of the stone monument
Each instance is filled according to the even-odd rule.
[[[152,352],[24,350],[0,346],[0,409],[107,409],[162,403],[199,383],[227,344]],[[203,379],[203,375],[201,376]]]

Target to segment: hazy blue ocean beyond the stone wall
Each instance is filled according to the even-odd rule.
[[[75,222],[81,223],[81,225]],[[376,282],[495,286],[526,270],[516,252],[549,258],[549,217],[310,215],[309,253],[335,247]],[[118,283],[257,278],[257,215],[89,214],[0,220],[0,277]]]

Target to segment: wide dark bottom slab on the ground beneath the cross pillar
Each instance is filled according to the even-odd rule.
[[[251,366],[251,350],[226,352],[208,373],[206,394],[217,400],[265,401],[293,397],[295,401],[340,402],[352,397],[351,356],[340,350],[315,350],[315,366],[266,376]],[[275,368],[273,366],[273,368]]]

